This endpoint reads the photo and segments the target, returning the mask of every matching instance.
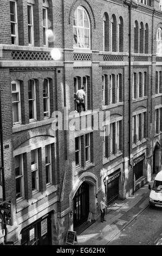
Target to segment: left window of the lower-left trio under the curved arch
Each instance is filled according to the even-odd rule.
[[[15,156],[16,199],[24,197],[23,155]]]

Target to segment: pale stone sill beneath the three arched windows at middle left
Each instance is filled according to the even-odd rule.
[[[29,130],[29,129],[36,128],[36,127],[39,127],[42,125],[51,124],[51,123],[53,123],[54,120],[55,120],[54,118],[47,118],[47,119],[44,119],[41,121],[33,121],[29,124],[20,124],[20,125],[16,125],[16,126],[14,125],[12,127],[12,133]]]

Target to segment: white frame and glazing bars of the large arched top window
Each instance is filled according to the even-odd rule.
[[[83,26],[79,26],[79,22],[78,22],[78,19],[79,19],[78,10],[82,10],[82,12],[83,12]],[[79,48],[79,49],[80,49],[80,48],[90,49],[90,21],[89,21],[88,13],[87,13],[87,11],[85,10],[85,8],[83,8],[83,7],[81,7],[81,6],[77,7],[76,11],[77,11],[77,25],[75,26],[74,23],[73,23],[73,29],[76,28],[76,30],[77,30],[77,47],[74,46],[74,44],[73,44],[73,47],[74,47],[74,48]],[[86,13],[86,15],[87,15],[87,17],[88,17],[88,25],[89,25],[88,28],[85,27],[85,21],[84,21],[84,15],[85,15],[85,13],[84,13],[84,11],[85,11],[85,13]],[[79,47],[79,40],[78,40],[79,28],[83,29],[83,47]],[[85,29],[88,29],[88,31],[89,31],[89,47],[85,47]],[[74,31],[73,31],[73,36],[74,36]]]

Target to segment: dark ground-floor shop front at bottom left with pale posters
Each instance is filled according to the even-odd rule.
[[[22,229],[21,245],[51,245],[51,213]]]

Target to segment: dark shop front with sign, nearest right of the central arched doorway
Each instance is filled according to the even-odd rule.
[[[105,179],[105,193],[107,195],[107,203],[112,202],[119,196],[119,177],[121,175],[120,169]]]

